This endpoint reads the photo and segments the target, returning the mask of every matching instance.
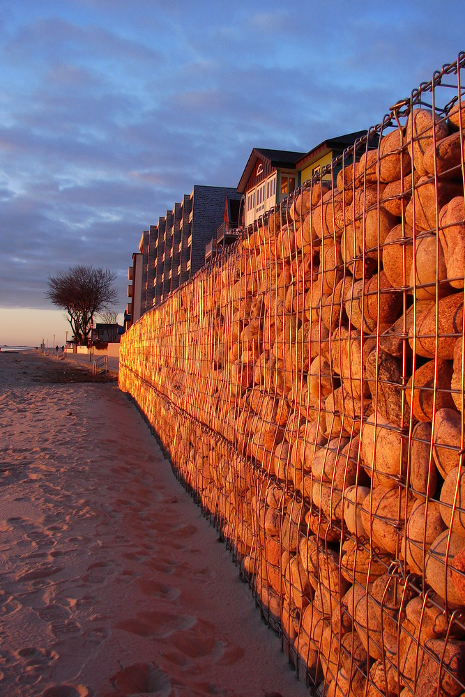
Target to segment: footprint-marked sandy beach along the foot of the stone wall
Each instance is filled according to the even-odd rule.
[[[0,353],[0,694],[309,694],[115,378]]]

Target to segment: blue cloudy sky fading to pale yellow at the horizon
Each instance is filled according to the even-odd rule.
[[[429,0],[0,1],[0,344],[64,339],[47,275],[75,263],[117,273],[122,313],[142,231],[194,184],[376,125],[456,59],[464,20]]]

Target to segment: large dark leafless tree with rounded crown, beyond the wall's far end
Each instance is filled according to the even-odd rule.
[[[79,344],[88,344],[93,317],[118,302],[116,273],[93,266],[72,266],[49,276],[45,295],[68,312],[68,321]]]

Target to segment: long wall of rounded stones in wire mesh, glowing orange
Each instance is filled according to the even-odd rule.
[[[121,342],[121,389],[328,697],[465,692],[464,65]]]

